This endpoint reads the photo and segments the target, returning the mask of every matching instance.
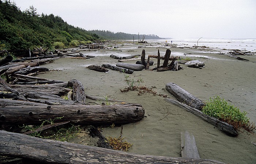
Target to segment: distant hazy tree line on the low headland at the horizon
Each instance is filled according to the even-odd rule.
[[[95,33],[98,36],[101,36],[103,39],[122,39],[122,40],[132,40],[133,37],[135,40],[139,39],[138,34],[129,34],[129,33],[124,33],[124,32],[117,32],[114,33],[112,31],[105,31],[105,30],[91,30],[89,31],[91,33]],[[145,35],[142,34],[140,35],[140,40],[142,40],[143,35],[145,36],[145,39],[161,39],[159,36],[154,35],[154,34],[149,34]]]

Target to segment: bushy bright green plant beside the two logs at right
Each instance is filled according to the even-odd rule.
[[[241,112],[239,108],[230,105],[219,96],[214,96],[214,99],[210,98],[205,103],[202,112],[233,125],[235,129],[244,128],[249,132],[255,129],[255,126],[249,122],[249,118],[245,116],[247,112]]]

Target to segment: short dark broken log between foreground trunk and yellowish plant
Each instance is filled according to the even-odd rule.
[[[106,148],[106,149],[113,149],[106,141],[106,138],[101,134],[101,132],[98,131],[96,128],[90,128],[89,129],[90,135],[92,137],[98,137],[99,140],[97,141],[98,147],[100,148]]]

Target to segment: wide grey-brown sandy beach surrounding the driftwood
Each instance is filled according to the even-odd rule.
[[[140,55],[142,49],[145,49],[147,57],[147,55],[157,55],[158,49],[161,56],[164,56],[166,51],[166,47],[163,47],[161,43],[153,45],[123,42],[117,43],[117,45],[119,48],[110,50],[82,51],[84,55],[97,56],[91,59],[57,59],[54,63],[43,65],[52,71],[39,74],[38,77],[63,81],[76,79],[84,85],[88,95],[98,97],[108,95],[111,99],[141,104],[145,109],[145,118],[138,123],[123,125],[124,140],[133,143],[129,152],[181,157],[180,135],[181,132],[188,131],[195,136],[202,159],[214,159],[225,163],[256,163],[256,146],[252,144],[252,142],[256,143],[255,133],[241,130],[238,137],[230,137],[192,113],[167,103],[163,97],[148,93],[139,96],[137,91],[120,92],[120,89],[127,86],[123,73],[111,69],[108,73],[102,73],[86,68],[91,64],[118,63],[117,59],[109,57],[111,54],[117,56]],[[253,63],[256,61],[255,55],[241,56],[250,60],[241,61],[227,55],[216,54],[227,52],[226,50],[169,48],[172,55],[192,53],[182,56],[184,58],[193,55],[207,56],[207,58],[191,57],[203,61],[205,68],[188,68],[181,65],[184,69],[180,71],[143,70],[134,72],[129,75],[129,78],[134,80],[141,78],[143,83],[140,85],[153,87],[157,93],[173,99],[174,97],[165,90],[165,85],[170,82],[176,83],[203,101],[219,95],[228,100],[230,104],[240,108],[241,111],[248,112],[247,116],[251,118],[250,121],[256,122],[256,63]],[[215,53],[209,53],[212,51]],[[150,66],[150,69],[156,67],[157,63],[157,59],[152,60],[154,60],[154,65]],[[129,60],[124,63],[134,64],[136,61]],[[99,104],[100,102],[86,99],[86,103]],[[102,127],[101,129],[104,136],[112,137],[118,137],[121,131],[120,126]],[[81,138],[78,137],[73,142],[80,143]],[[88,142],[84,141],[81,144],[88,145]]]

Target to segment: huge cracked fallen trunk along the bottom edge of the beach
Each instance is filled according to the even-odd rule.
[[[42,163],[221,163],[206,159],[137,155],[6,131],[0,131],[0,137],[0,155]]]

